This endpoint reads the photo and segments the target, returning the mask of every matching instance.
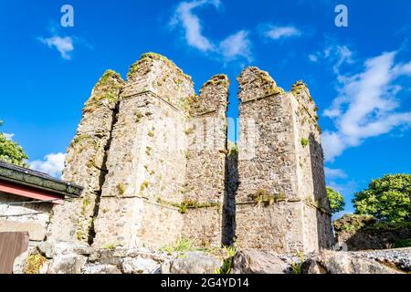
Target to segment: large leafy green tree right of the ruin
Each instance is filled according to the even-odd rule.
[[[410,218],[411,174],[387,174],[355,193],[355,214],[370,214],[387,222]]]

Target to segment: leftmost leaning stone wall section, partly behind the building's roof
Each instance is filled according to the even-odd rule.
[[[114,71],[106,71],[86,102],[76,136],[68,147],[62,179],[84,187],[79,199],[53,208],[48,239],[88,242],[93,233],[93,217],[100,201],[101,184],[107,172],[106,151],[124,81]]]

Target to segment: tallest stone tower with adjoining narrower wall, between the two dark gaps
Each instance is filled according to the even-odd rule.
[[[180,237],[220,245],[227,84],[216,76],[196,96],[191,78],[165,57],[146,54],[132,65],[93,245],[158,248]]]

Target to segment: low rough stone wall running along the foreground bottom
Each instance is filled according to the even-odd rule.
[[[93,248],[82,243],[45,242],[18,256],[15,274],[216,274],[224,253],[167,253],[134,248]],[[409,273],[411,248],[309,255],[257,249],[237,251],[231,274],[402,274]]]

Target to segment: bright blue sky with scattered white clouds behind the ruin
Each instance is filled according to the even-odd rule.
[[[340,4],[348,27],[334,25]],[[60,25],[62,5],[74,8],[73,27]],[[371,179],[411,172],[407,0],[0,1],[0,36],[2,131],[41,171],[58,175],[104,70],[125,78],[143,52],[155,51],[197,90],[226,73],[233,118],[242,68],[268,70],[287,90],[304,80],[320,108],[327,183],[344,194],[348,212]]]

